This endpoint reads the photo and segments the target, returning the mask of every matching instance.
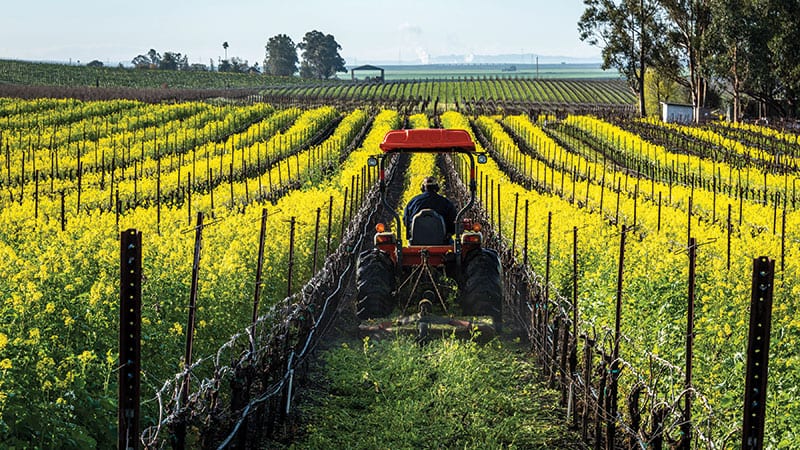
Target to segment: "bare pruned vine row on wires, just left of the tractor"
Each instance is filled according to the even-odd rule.
[[[367,191],[364,190],[364,192]],[[377,195],[377,191],[372,189],[369,191],[368,199],[362,202],[376,204]],[[354,200],[351,199],[351,201]],[[165,444],[166,441],[163,437],[165,427],[172,428],[178,424],[191,422],[193,418],[196,422],[212,425],[221,421],[232,423],[229,428],[225,429],[230,432],[214,426],[207,426],[200,430],[203,442],[208,445],[211,445],[212,442],[219,442],[219,448],[224,448],[230,445],[237,433],[241,432],[247,420],[260,406],[268,401],[274,401],[280,394],[285,394],[280,411],[272,408],[269,415],[285,417],[289,413],[295,372],[316,346],[319,336],[324,334],[324,330],[332,322],[333,317],[331,316],[336,313],[335,302],[342,295],[345,280],[352,275],[355,264],[353,256],[368,232],[367,224],[376,212],[375,208],[361,208],[354,214],[339,248],[327,258],[320,272],[300,292],[274,305],[246,331],[232,336],[219,348],[216,355],[198,359],[187,366],[183,372],[176,374],[173,379],[164,383],[155,397],[159,405],[158,424],[145,429],[141,434],[141,442],[146,448],[158,448]],[[321,304],[314,301],[323,298]],[[319,308],[318,311],[317,308]],[[317,312],[318,314],[315,314]],[[306,321],[307,318],[311,320]],[[302,326],[302,323],[307,325]],[[263,337],[260,338],[262,335]],[[235,358],[230,365],[223,365],[221,363],[223,353],[226,350],[234,350],[237,343],[243,339],[248,341],[246,350],[243,350],[242,354]],[[282,348],[279,344],[281,342],[286,344],[292,339],[297,342],[294,346],[286,347],[291,350],[288,350],[286,354],[276,355],[276,352]],[[276,365],[271,364],[275,359],[286,361],[285,365],[278,364],[282,367],[280,373],[276,373]],[[200,366],[209,362],[212,362],[214,366],[213,377],[200,381],[198,389],[190,394],[185,402],[175,401],[180,395],[176,386],[182,385],[183,380],[187,380]],[[229,377],[236,377],[237,373],[241,374],[244,366],[261,367],[264,369],[261,375],[272,381],[262,386],[260,394],[247,402],[241,411],[222,413],[217,411],[215,413],[214,407],[218,405],[215,402],[218,400],[214,399],[218,396],[222,381]],[[253,374],[249,374],[249,376],[253,377]],[[165,403],[167,398],[173,400]],[[170,408],[170,404],[174,404],[174,406]],[[269,419],[270,422],[276,420],[280,421],[281,418],[271,417]],[[224,439],[219,436],[220,433],[225,433]]]

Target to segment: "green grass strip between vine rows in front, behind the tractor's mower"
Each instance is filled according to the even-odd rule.
[[[327,350],[288,448],[578,449],[558,393],[514,344],[410,338]]]

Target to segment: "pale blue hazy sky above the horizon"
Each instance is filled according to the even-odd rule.
[[[270,37],[331,34],[348,65],[426,64],[458,55],[600,59],[578,38],[581,0],[4,0],[0,59],[106,64],[151,48],[189,63],[263,64]],[[527,61],[530,58],[531,61]]]

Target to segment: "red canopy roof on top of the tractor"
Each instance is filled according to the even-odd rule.
[[[380,147],[384,153],[475,151],[475,143],[466,130],[441,128],[392,130],[383,137]]]

